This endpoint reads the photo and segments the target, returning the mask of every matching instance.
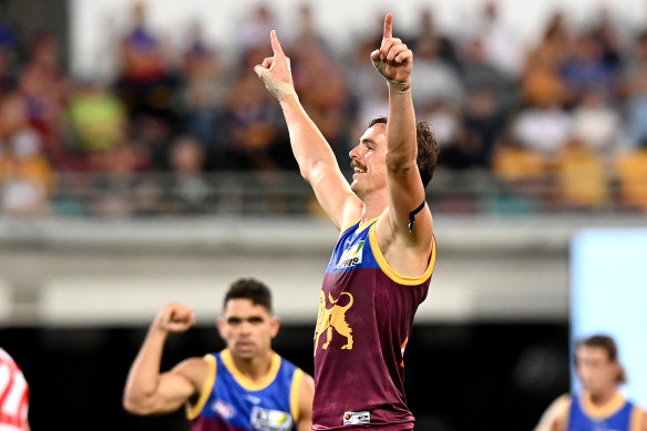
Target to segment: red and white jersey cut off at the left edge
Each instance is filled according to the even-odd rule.
[[[29,409],[29,387],[13,359],[0,348],[0,430],[23,430]]]

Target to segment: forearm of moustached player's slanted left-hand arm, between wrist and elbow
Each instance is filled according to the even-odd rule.
[[[280,105],[290,134],[292,153],[304,178],[314,184],[317,166],[337,166],[337,160],[317,125],[308,116],[296,98],[287,96]]]

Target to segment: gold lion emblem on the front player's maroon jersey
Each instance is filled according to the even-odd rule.
[[[338,306],[337,301],[342,295],[349,297],[348,304],[345,306]],[[326,342],[321,346],[324,350],[328,349],[330,341],[332,341],[332,329],[337,333],[346,337],[346,345],[342,349],[352,350],[352,328],[346,322],[346,311],[352,307],[352,295],[343,291],[337,299],[332,299],[332,296],[328,294],[328,300],[332,307],[328,308],[326,306],[326,294],[321,290],[321,296],[319,299],[319,314],[317,315],[317,329],[315,330],[315,356],[317,356],[317,349],[319,348],[319,337],[326,331]]]

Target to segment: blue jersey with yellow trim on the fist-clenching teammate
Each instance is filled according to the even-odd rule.
[[[228,349],[206,355],[209,373],[198,401],[187,408],[192,431],[292,431],[304,372],[276,352],[260,382],[247,379]]]

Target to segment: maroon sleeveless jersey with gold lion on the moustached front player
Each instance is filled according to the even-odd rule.
[[[332,253],[315,330],[314,430],[412,430],[404,397],[404,347],[435,264],[403,277],[386,261],[377,218],[347,228]]]

